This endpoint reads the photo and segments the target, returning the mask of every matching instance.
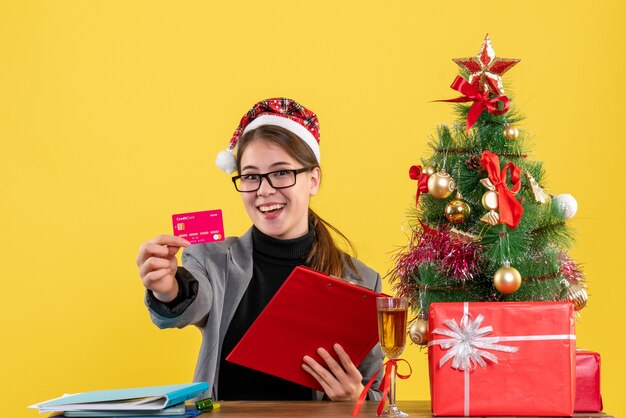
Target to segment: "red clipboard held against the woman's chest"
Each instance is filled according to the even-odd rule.
[[[317,349],[338,360],[338,343],[358,366],[378,343],[377,296],[382,295],[298,266],[226,360],[321,391],[302,370],[302,358],[325,366]]]

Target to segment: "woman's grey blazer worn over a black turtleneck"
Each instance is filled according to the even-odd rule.
[[[222,242],[192,245],[184,250],[183,267],[197,281],[197,292],[191,292],[188,300],[176,307],[166,308],[146,292],[145,303],[150,311],[152,322],[159,328],[183,328],[196,325],[202,333],[202,345],[196,363],[194,381],[212,384],[212,396],[218,397],[219,358],[224,336],[235,310],[241,301],[252,278],[252,230],[240,238],[230,237]],[[353,259],[354,264],[365,279],[362,284],[380,292],[380,275]],[[346,269],[346,279],[358,280]],[[359,365],[363,375],[363,385],[377,373],[382,365],[383,354],[380,345],[365,357]],[[368,392],[368,399],[381,399],[378,390],[382,371]],[[312,399],[322,399],[323,393],[312,394]]]

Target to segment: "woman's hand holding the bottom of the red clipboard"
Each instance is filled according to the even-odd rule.
[[[363,376],[350,357],[339,344],[333,346],[341,364],[331,357],[323,348],[317,354],[326,362],[328,368],[322,366],[309,356],[304,356],[302,368],[322,385],[326,395],[333,401],[356,401],[363,391]]]

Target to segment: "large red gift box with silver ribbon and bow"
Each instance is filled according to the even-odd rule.
[[[571,303],[432,303],[428,321],[434,415],[573,414]]]

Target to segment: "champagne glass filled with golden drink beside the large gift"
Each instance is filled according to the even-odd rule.
[[[378,337],[380,346],[389,360],[397,359],[404,351],[406,342],[406,314],[407,298],[377,297],[376,309],[378,311]],[[391,385],[389,388],[389,406],[381,416],[406,417],[396,406],[396,373],[389,376]]]

